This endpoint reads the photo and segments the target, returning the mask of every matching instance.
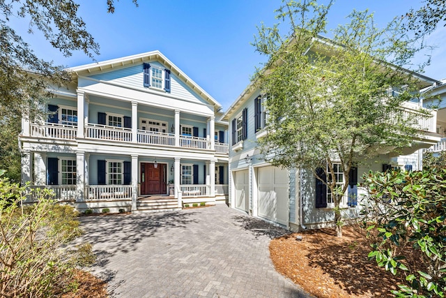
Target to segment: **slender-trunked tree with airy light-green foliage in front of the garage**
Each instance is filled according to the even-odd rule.
[[[264,158],[272,165],[311,170],[328,186],[341,237],[339,204],[351,168],[408,146],[420,133],[417,118],[427,114],[401,109],[420,89],[403,68],[420,49],[401,27],[401,18],[378,28],[373,14],[353,10],[350,22],[328,39],[319,33],[326,32],[330,6],[284,2],[277,18],[291,25],[291,33],[282,35],[279,25],[259,27],[254,46],[268,62],[256,71],[254,86],[268,95],[268,134],[259,139]],[[341,163],[343,186],[337,184],[335,163]]]

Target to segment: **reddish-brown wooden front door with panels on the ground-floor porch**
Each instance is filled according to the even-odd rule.
[[[164,195],[166,189],[166,165],[141,163],[141,195]]]

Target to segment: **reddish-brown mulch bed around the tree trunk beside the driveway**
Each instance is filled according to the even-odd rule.
[[[302,240],[295,239],[301,235]],[[279,273],[316,297],[394,297],[401,276],[393,276],[368,260],[371,251],[364,237],[344,227],[309,230],[270,242],[270,257]]]

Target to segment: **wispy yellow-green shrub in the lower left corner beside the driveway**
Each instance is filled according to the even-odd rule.
[[[91,246],[66,246],[81,232],[78,214],[48,200],[53,191],[21,187],[2,175],[0,171],[0,297],[53,297],[72,287],[77,265],[91,263]],[[35,202],[25,204],[26,193]]]

